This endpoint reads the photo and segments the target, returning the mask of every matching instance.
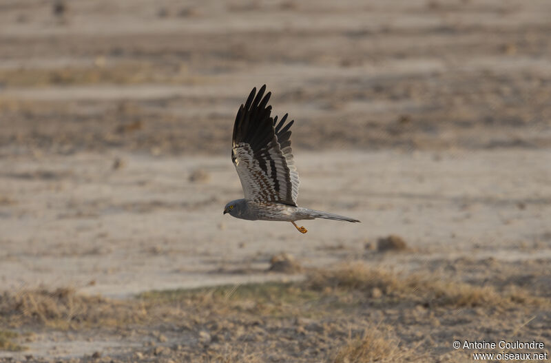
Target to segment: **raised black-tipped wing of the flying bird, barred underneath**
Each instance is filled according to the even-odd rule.
[[[245,105],[239,107],[233,125],[231,160],[245,199],[296,206],[299,180],[289,130],[294,121],[285,124],[287,114],[279,123],[277,116],[270,117],[271,106],[267,104],[271,93],[264,96],[265,90],[263,85],[257,94],[253,88]]]

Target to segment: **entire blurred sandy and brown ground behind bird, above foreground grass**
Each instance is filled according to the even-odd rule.
[[[550,19],[548,0],[1,0],[0,291],[300,279],[267,272],[289,253],[545,295]],[[300,205],[361,225],[222,217],[264,83],[295,120]]]

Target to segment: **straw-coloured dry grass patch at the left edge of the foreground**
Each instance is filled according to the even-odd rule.
[[[73,289],[25,290],[0,295],[0,322],[10,326],[40,324],[55,329],[117,326],[142,320],[145,314],[145,309],[136,304],[77,295]]]

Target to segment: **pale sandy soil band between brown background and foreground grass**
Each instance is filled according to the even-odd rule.
[[[297,154],[300,204],[349,214],[361,225],[304,221],[309,233],[302,236],[290,223],[222,216],[242,193],[222,156],[2,160],[0,192],[10,199],[1,208],[1,287],[72,286],[120,297],[258,281],[269,276],[254,271],[275,253],[320,267],[357,256],[389,233],[415,249],[387,261],[399,269],[473,251],[481,259],[551,258],[550,154]],[[124,166],[113,169],[114,160]],[[205,179],[190,181],[198,170]],[[253,273],[227,273],[239,269]]]

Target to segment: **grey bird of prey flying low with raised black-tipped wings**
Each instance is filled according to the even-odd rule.
[[[271,118],[268,101],[271,92],[264,96],[266,85],[256,93],[253,88],[245,105],[237,112],[233,124],[231,160],[236,166],[245,198],[232,200],[224,207],[224,214],[246,220],[281,220],[293,223],[301,233],[296,220],[325,218],[360,222],[325,211],[298,207],[298,173],[291,154],[291,125],[287,114],[278,122]]]

